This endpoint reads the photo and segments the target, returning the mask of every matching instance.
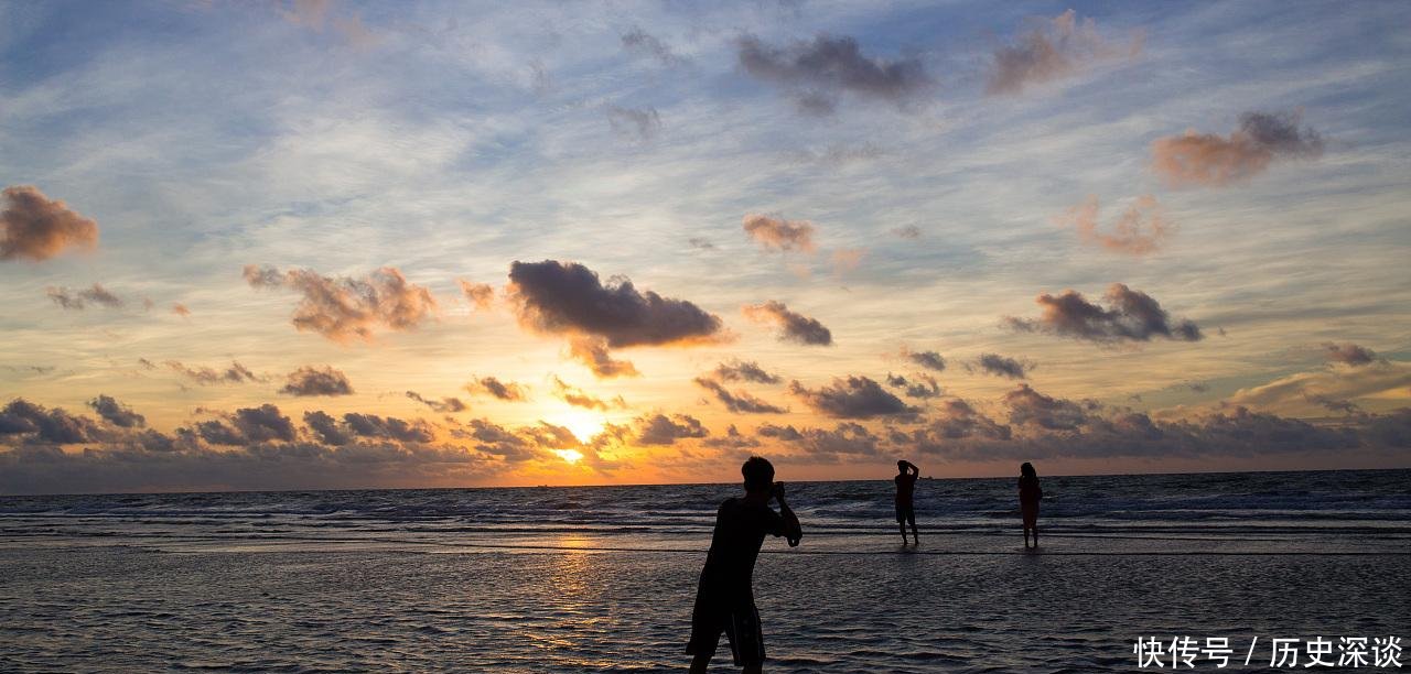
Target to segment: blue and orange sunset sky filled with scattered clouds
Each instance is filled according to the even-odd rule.
[[[1411,467],[1407,25],[0,1],[0,494]]]

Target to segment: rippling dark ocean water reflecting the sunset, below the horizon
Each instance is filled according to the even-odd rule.
[[[766,671],[1137,671],[1150,637],[1228,639],[1232,670],[1273,639],[1336,661],[1411,636],[1408,481],[1041,477],[1037,551],[1013,478],[920,481],[919,547],[889,481],[790,482],[803,543],[766,540],[755,572]],[[680,671],[738,492],[6,496],[0,671]]]

